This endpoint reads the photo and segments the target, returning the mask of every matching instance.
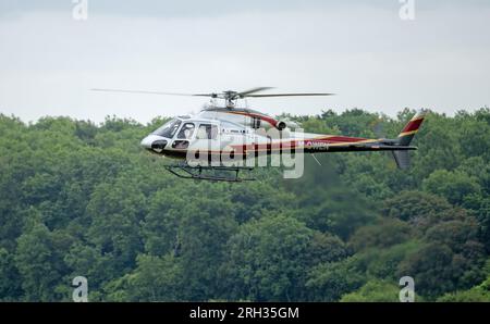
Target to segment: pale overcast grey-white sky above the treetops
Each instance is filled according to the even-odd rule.
[[[0,113],[147,123],[206,103],[91,88],[336,94],[248,100],[272,115],[490,105],[488,0],[86,0],[87,20],[76,1],[0,0]]]

